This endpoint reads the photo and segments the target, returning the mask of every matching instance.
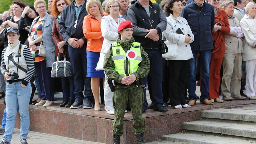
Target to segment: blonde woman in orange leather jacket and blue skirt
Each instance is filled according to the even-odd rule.
[[[88,15],[84,17],[83,33],[87,39],[86,56],[87,56],[87,74],[91,78],[91,89],[94,96],[94,110],[100,111],[99,103],[99,83],[100,78],[105,77],[103,70],[95,70],[99,61],[100,51],[102,48],[103,37],[101,34],[101,19],[103,9],[99,0],[90,0],[86,2]]]

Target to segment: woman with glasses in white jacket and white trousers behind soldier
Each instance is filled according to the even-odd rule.
[[[105,12],[107,16],[102,18],[101,21],[101,32],[104,38],[101,53],[104,55],[107,53],[111,44],[119,38],[118,36],[118,26],[121,22],[125,21],[123,18],[118,18],[118,13],[121,6],[117,0],[110,0],[107,2],[105,7]],[[113,92],[111,92],[110,87],[106,81],[107,76],[105,76],[105,89],[104,89],[104,101],[105,110],[108,114],[114,114],[113,107]]]

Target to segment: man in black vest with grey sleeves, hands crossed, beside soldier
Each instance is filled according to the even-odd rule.
[[[147,81],[152,106],[156,111],[165,112],[167,109],[163,107],[163,58],[159,34],[166,30],[166,16],[161,6],[157,3],[152,4],[150,0],[134,0],[131,4],[126,19],[133,22],[133,38],[141,43],[150,59],[151,68]]]

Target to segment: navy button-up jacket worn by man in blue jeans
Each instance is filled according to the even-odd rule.
[[[190,44],[192,50],[212,50],[214,28],[214,7],[207,2],[200,8],[197,4],[191,2],[186,5],[181,13],[185,18],[194,34],[194,42]]]

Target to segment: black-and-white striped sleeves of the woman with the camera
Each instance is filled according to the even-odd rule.
[[[7,69],[6,69],[6,64],[4,62],[4,53],[5,53],[5,49],[2,51],[2,61],[1,61],[1,72],[2,72],[3,75],[6,72],[8,72]],[[32,75],[34,74],[34,71],[35,71],[34,61],[33,61],[33,58],[32,58],[29,47],[27,47],[27,46],[24,47],[23,56],[26,60],[28,70],[27,70],[26,77],[22,81],[22,84],[27,86],[28,83],[30,82],[30,78],[32,77]]]

